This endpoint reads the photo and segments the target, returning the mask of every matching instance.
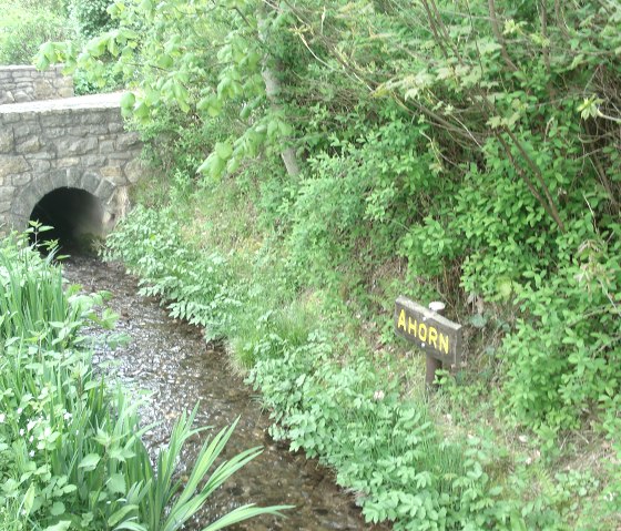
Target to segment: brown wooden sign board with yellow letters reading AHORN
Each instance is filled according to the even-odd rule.
[[[406,297],[395,302],[395,333],[440,360],[447,368],[461,366],[461,325]]]

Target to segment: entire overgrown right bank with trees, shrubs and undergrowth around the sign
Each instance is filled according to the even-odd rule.
[[[110,256],[227,338],[273,435],[395,529],[618,528],[619,3],[109,13],[39,63],[123,75],[163,169]],[[398,294],[467,325],[429,401]]]

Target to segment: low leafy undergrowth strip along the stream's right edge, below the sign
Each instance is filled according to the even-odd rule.
[[[480,385],[449,378],[428,402],[408,381],[411,361],[390,355],[393,346],[374,354],[378,330],[365,333],[343,305],[326,303],[329,289],[301,290],[292,265],[268,252],[274,241],[257,245],[235,218],[214,223],[234,207],[244,218],[235,188],[190,198],[190,223],[174,207],[138,206],[109,238],[105,257],[122,259],[172,316],[206,326],[207,339],[225,338],[234,364],[262,391],[275,439],[334,468],[365,518],[395,529],[587,530],[602,508],[613,529],[617,472],[561,467],[553,443],[546,449],[530,431],[498,430],[493,405],[475,406],[489,392]],[[459,412],[454,400],[464,402]],[[447,423],[451,415],[462,419]]]

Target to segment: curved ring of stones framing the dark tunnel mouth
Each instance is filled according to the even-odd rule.
[[[83,171],[77,167],[52,170],[44,176],[28,184],[18,195],[13,211],[13,226],[26,228],[37,204],[48,194],[59,188],[77,188],[90,193],[101,204],[102,231],[108,232],[119,216],[120,190],[110,181],[101,177],[93,171]]]

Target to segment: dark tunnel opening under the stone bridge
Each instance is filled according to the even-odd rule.
[[[100,201],[79,188],[57,188],[34,205],[30,221],[53,227],[51,231],[31,234],[31,243],[55,239],[64,253],[88,251],[93,237],[102,234],[102,207]]]

